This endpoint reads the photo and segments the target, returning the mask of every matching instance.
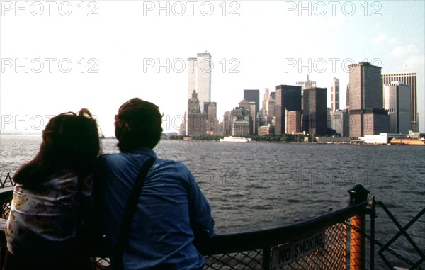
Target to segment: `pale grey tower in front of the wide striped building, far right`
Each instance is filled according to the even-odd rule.
[[[411,88],[392,81],[384,85],[384,108],[390,115],[390,133],[409,133],[411,130]]]

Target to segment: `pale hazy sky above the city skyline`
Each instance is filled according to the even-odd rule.
[[[212,55],[217,118],[244,89],[274,91],[307,74],[340,82],[348,64],[417,72],[425,130],[425,1],[0,1],[1,132],[41,132],[50,117],[89,108],[104,135],[122,103],[156,103],[164,132],[187,108],[187,59]]]

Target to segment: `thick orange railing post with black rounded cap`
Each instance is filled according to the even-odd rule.
[[[358,184],[348,190],[350,193],[350,205],[356,205],[368,201],[369,191]],[[356,230],[356,229],[357,230]],[[351,239],[350,239],[350,270],[364,270],[366,267],[366,214],[355,215],[351,218]]]

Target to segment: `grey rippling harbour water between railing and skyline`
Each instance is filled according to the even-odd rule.
[[[1,180],[38,152],[40,140],[1,136]],[[103,152],[118,152],[116,140],[102,144]],[[425,206],[425,147],[164,140],[155,150],[191,169],[212,205],[217,232],[276,227],[317,215],[346,204],[347,189],[355,184],[384,202],[402,226]],[[397,233],[380,208],[376,222],[382,242]],[[408,233],[424,249],[425,217]],[[417,260],[405,242],[397,241],[396,250]]]

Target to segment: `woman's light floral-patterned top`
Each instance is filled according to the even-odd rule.
[[[21,257],[61,257],[76,247],[77,219],[86,218],[93,194],[93,178],[85,176],[78,196],[78,176],[60,171],[37,190],[17,184],[6,223],[9,252]],[[81,200],[84,207],[79,208]],[[80,216],[77,215],[81,210]]]

